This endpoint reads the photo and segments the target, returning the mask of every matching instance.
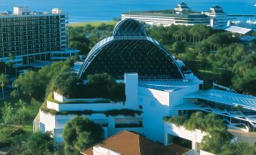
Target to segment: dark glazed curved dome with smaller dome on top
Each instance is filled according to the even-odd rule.
[[[88,53],[79,78],[106,72],[122,79],[125,73],[137,72],[144,79],[184,80],[176,61],[153,38],[147,37],[137,20],[120,21],[113,36],[98,42]]]

